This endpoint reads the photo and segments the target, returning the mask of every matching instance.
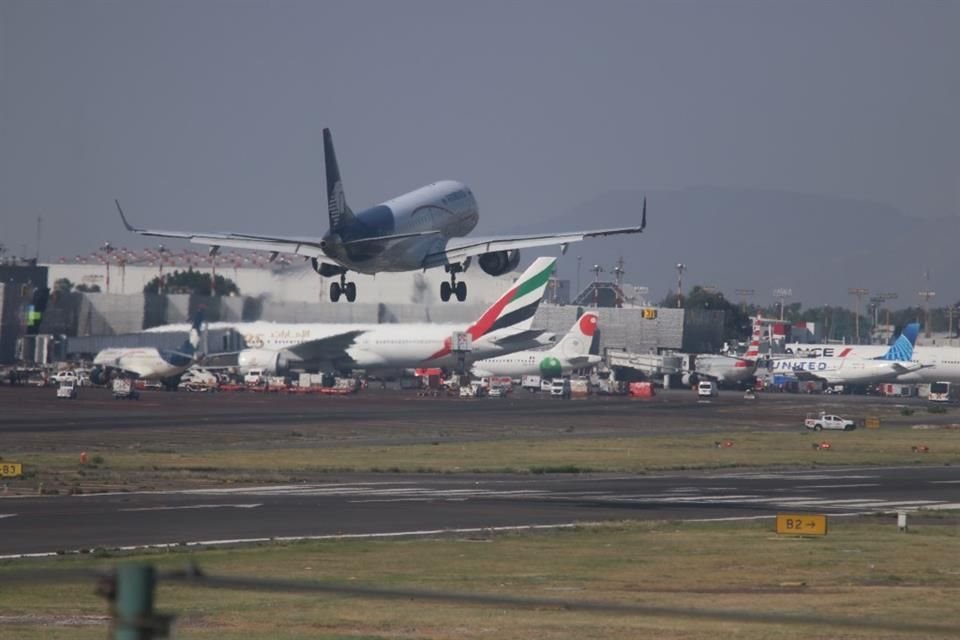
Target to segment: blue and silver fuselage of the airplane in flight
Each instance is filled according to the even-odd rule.
[[[442,259],[428,256],[442,255],[448,239],[470,233],[480,212],[466,185],[441,180],[356,212],[354,218],[351,224],[324,236],[323,251],[351,271],[373,274],[444,264]],[[351,244],[364,238],[424,232],[427,235]]]

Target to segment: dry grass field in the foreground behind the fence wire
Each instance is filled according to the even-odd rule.
[[[566,600],[926,622],[960,630],[960,531],[931,514],[898,533],[888,519],[834,519],[823,539],[784,539],[770,521],[620,523],[568,531],[403,541],[329,541],[69,556],[0,564],[0,637],[104,638],[90,583],[17,583],[22,569],[197,562],[215,575],[332,580]],[[176,637],[216,638],[918,638],[916,633],[715,622],[162,585]]]

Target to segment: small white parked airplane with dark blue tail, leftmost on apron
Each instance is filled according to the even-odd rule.
[[[190,326],[190,337],[172,351],[156,347],[122,347],[103,349],[94,357],[90,382],[106,384],[111,377],[123,376],[160,380],[176,388],[180,375],[202,355],[200,350],[203,312],[198,311]]]

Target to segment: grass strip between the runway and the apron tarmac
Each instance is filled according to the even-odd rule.
[[[732,446],[717,446],[726,440]],[[828,441],[829,450],[816,450]],[[919,453],[914,447],[929,448]],[[841,433],[750,430],[709,435],[504,439],[417,445],[322,446],[303,442],[262,448],[166,450],[91,449],[81,465],[76,454],[18,455],[27,477],[13,491],[70,493],[163,488],[236,482],[287,482],[336,471],[643,473],[670,469],[811,467],[815,465],[952,464],[960,461],[955,430],[865,430]]]

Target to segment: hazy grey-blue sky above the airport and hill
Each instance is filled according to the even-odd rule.
[[[957,216],[958,33],[923,0],[0,0],[0,242],[145,246],[115,197],[320,235],[325,126],[355,209],[455,178],[481,233],[698,185]]]

